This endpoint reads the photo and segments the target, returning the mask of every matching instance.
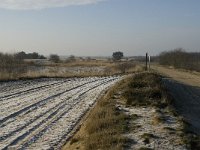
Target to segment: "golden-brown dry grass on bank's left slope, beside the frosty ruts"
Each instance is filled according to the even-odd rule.
[[[127,131],[128,116],[115,107],[113,94],[110,91],[106,98],[101,100],[89,116],[86,124],[88,138],[85,149],[122,149],[127,139],[122,136]]]

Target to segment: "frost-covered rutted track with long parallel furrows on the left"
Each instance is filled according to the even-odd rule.
[[[58,149],[119,76],[0,83],[0,149]]]

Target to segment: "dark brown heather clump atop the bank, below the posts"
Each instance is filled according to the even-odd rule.
[[[157,74],[142,73],[135,75],[124,92],[127,105],[156,106],[165,108],[171,104],[171,98],[161,84]]]

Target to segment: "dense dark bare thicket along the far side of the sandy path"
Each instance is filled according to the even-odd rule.
[[[200,71],[200,52],[186,52],[184,49],[174,49],[162,52],[158,57],[159,64]]]

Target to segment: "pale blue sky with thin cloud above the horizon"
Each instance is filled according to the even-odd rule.
[[[200,0],[2,1],[1,52],[110,56],[120,50],[133,56],[178,47],[200,52]]]

